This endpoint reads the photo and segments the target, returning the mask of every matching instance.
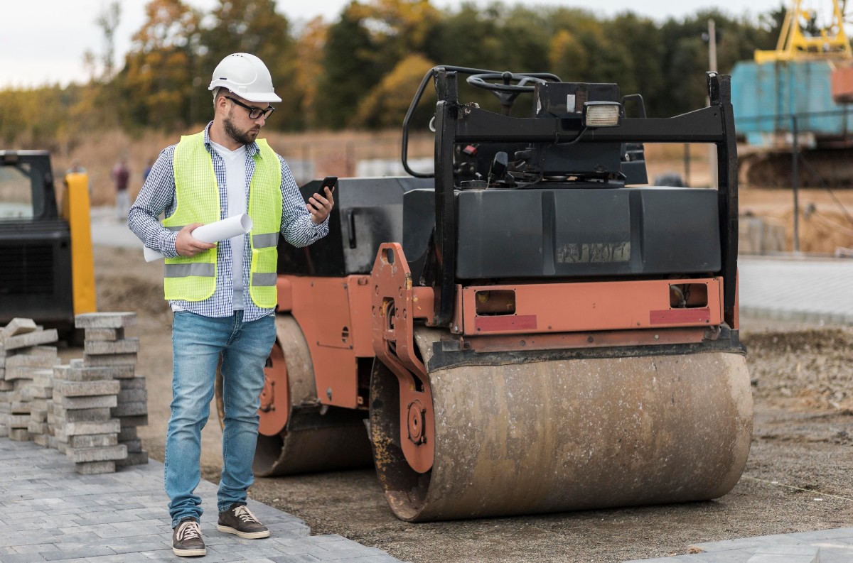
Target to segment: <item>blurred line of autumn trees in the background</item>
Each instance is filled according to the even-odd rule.
[[[647,115],[705,105],[708,20],[717,66],[731,72],[755,49],[773,49],[785,8],[750,20],[717,10],[663,23],[624,12],[602,18],[577,8],[494,3],[437,9],[429,0],[353,0],[331,23],[294,26],[276,0],[219,0],[210,12],[151,0],[123,65],[112,63],[120,19],[114,2],[96,20],[103,64],[66,87],[0,90],[6,146],[68,146],[79,135],[122,128],[182,131],[212,115],[207,91],[225,55],[248,52],[267,66],[283,101],[267,124],[281,131],[398,127],[424,74],[437,65],[552,72],[572,82],[615,82],[643,96]],[[475,91],[463,101],[496,106]],[[418,114],[426,124],[431,103]]]

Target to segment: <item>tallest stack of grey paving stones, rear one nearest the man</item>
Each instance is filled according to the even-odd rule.
[[[136,427],[148,425],[145,377],[136,374],[139,339],[125,336],[125,328],[136,325],[136,313],[80,314],[75,325],[84,329],[82,365],[108,372],[119,385],[110,414],[119,420],[118,441],[125,446],[127,456],[116,460],[116,465],[148,463],[148,451],[142,450],[142,440],[136,434]]]

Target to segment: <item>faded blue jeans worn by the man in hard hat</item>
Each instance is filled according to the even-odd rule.
[[[276,341],[272,315],[249,323],[243,312],[203,317],[177,311],[172,321],[173,374],[171,417],[165,434],[165,492],[172,527],[188,516],[200,518],[201,428],[210,416],[213,383],[222,358],[222,479],[218,510],[246,503],[254,481],[252,460],[258,441],[258,407],[264,388],[264,365]]]

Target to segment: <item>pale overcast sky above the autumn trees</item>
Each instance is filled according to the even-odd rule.
[[[817,2],[817,0],[807,0]],[[210,10],[218,0],[185,0],[191,6]],[[787,0],[786,4],[791,2]],[[147,0],[122,0],[122,13],[116,32],[116,65],[121,65],[130,47],[131,36],[145,20]],[[295,24],[316,16],[328,22],[338,19],[349,0],[278,0],[278,11]],[[441,9],[458,9],[461,0],[432,0]],[[475,0],[478,6],[487,0]],[[507,0],[505,3],[517,3]],[[525,5],[548,5],[601,10],[604,17],[633,11],[663,21],[682,18],[700,9],[717,7],[732,16],[756,16],[769,12],[783,0],[527,0]],[[83,83],[88,78],[83,65],[84,52],[102,53],[102,32],[96,25],[98,14],[108,0],[3,0],[0,7],[0,88],[32,87],[45,83]],[[748,8],[746,7],[748,4]],[[823,0],[824,9],[832,9],[832,0]],[[618,31],[614,30],[614,37]],[[452,64],[452,61],[444,61]]]

